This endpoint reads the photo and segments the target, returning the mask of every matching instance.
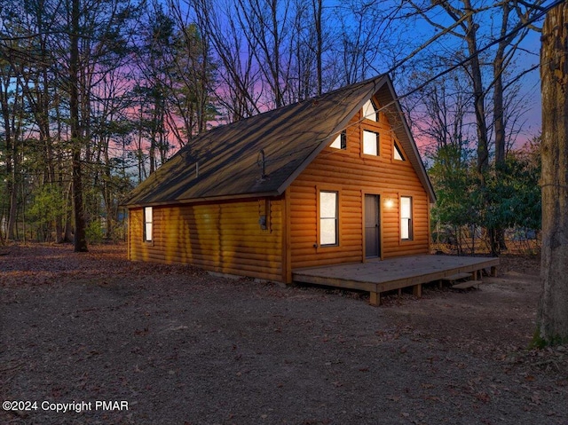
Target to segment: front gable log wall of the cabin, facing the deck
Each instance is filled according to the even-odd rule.
[[[347,128],[347,149],[327,147],[288,188],[291,267],[365,261],[365,194],[380,195],[381,256],[427,254],[430,249],[428,195],[410,161],[393,159],[393,137],[383,114],[379,122],[356,114]],[[379,133],[379,155],[362,153],[363,130]],[[401,147],[401,146],[399,146]],[[405,152],[403,152],[406,155]],[[319,247],[318,193],[339,193],[339,244]],[[413,198],[413,239],[400,239],[400,196]]]

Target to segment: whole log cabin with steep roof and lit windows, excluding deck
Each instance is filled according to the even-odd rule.
[[[435,194],[388,75],[209,130],[138,185],[134,261],[291,283],[430,252]]]

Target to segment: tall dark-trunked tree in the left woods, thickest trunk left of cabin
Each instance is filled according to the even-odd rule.
[[[69,98],[75,252],[83,252],[87,250],[83,161],[92,161],[92,90],[104,80],[109,70],[121,65],[123,35],[135,8],[129,0],[94,3],[67,0],[64,3],[60,18],[67,22],[64,30],[68,43],[67,40],[59,43],[59,54],[69,58],[62,77]]]

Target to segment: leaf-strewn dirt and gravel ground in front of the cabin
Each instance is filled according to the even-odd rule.
[[[568,347],[527,350],[534,258],[372,307],[124,246],[0,254],[2,424],[568,424]]]

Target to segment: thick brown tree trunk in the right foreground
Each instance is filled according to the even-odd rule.
[[[538,341],[568,342],[568,4],[542,28],[542,255]]]

